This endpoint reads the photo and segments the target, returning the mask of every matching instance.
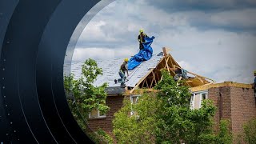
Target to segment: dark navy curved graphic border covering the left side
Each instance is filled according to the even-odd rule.
[[[98,2],[0,1],[0,143],[91,142],[66,102],[63,64],[76,26]]]

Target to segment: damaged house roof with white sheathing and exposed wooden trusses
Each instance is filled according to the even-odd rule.
[[[94,82],[94,86],[101,86],[104,82],[107,82],[109,87],[120,86],[120,83],[114,83],[114,79],[120,78],[118,70],[122,65],[123,58],[114,58],[105,61],[96,60],[96,62],[98,63],[98,67],[102,68],[103,74],[98,76]],[[72,64],[71,73],[74,73],[75,78],[81,76],[82,64],[83,62]],[[161,53],[153,54],[150,60],[142,62],[134,70],[129,70],[130,75],[127,78],[126,86],[128,86],[128,89],[132,89],[130,93],[133,93],[138,88],[153,88],[162,80],[162,69],[167,70],[173,77],[178,74],[176,72],[177,70],[183,70],[178,65],[178,62],[170,54],[167,54],[166,48],[163,48],[163,52]],[[187,70],[186,73],[192,75],[192,77],[187,76],[186,78],[182,78],[186,86],[195,87],[214,83],[214,80],[210,78],[202,77]]]

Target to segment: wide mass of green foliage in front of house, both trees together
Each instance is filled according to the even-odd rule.
[[[114,134],[120,143],[218,143],[229,137],[226,123],[214,134],[216,107],[204,100],[198,110],[190,109],[190,91],[166,71],[155,89],[157,94],[143,94],[136,105],[129,100],[114,116]],[[130,116],[134,110],[137,115]],[[228,140],[226,140],[228,141]]]

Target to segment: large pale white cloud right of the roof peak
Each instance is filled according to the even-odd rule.
[[[188,28],[184,33],[166,35],[162,39],[173,49],[170,53],[186,70],[216,82],[253,82],[255,35]]]

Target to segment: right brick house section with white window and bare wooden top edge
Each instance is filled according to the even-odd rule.
[[[254,90],[250,84],[222,82],[190,88],[193,92],[191,107],[199,108],[204,98],[214,101],[217,107],[214,116],[214,128],[222,118],[230,120],[230,130],[234,137],[242,134],[242,126],[252,118],[256,118]]]

